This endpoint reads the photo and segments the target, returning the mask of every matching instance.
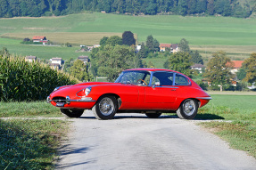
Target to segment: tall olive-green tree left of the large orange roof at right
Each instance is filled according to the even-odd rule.
[[[220,85],[220,91],[222,91],[223,87],[230,85],[233,77],[230,69],[233,65],[227,53],[222,51],[213,53],[203,76],[207,78],[211,86],[217,88]]]

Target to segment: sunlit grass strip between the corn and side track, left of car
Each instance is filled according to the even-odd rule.
[[[62,117],[61,111],[45,101],[0,102],[0,117]]]

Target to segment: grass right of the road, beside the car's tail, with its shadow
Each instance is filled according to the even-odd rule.
[[[253,95],[211,95],[212,101],[199,109],[195,119],[223,119],[200,125],[256,158],[256,102]]]

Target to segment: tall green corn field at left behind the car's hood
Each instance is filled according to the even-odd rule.
[[[78,83],[60,71],[24,57],[0,56],[0,101],[40,101],[56,86]]]

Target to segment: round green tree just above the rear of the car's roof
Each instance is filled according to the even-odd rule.
[[[189,53],[174,53],[169,57],[169,61],[166,61],[166,63],[169,63],[169,69],[181,72],[188,77],[192,77],[192,69],[190,69],[190,66],[193,65],[193,62],[191,62]]]

